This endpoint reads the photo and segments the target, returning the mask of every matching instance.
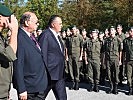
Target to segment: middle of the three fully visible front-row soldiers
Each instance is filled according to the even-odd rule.
[[[98,30],[91,31],[91,38],[85,44],[85,60],[88,68],[88,79],[91,83],[89,92],[99,92],[98,84],[100,78],[100,42],[98,40]]]

